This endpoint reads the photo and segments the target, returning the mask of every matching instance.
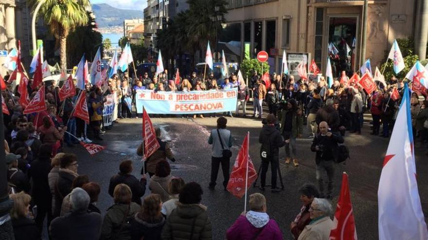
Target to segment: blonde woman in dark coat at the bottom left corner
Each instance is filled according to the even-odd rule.
[[[10,194],[14,206],[10,210],[15,240],[40,240],[40,231],[30,213],[31,196],[25,192]]]

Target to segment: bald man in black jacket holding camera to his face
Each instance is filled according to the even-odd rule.
[[[322,176],[325,171],[328,176],[326,197],[332,199],[334,163],[337,156],[338,144],[342,143],[343,137],[339,133],[333,133],[331,129],[328,128],[327,122],[320,123],[320,133],[318,133],[312,141],[311,150],[312,152],[316,152],[316,176],[321,198],[324,198],[324,182]]]

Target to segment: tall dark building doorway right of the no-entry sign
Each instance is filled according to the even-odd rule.
[[[331,51],[328,53],[334,77],[339,77],[341,71],[346,71],[346,75],[351,76],[358,65],[357,29],[358,16],[329,17],[328,44],[332,44],[337,49],[334,51],[335,54]]]

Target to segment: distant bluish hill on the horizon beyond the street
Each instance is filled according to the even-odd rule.
[[[125,19],[143,18],[143,9],[126,10],[112,7],[106,3],[92,4],[99,28],[123,26]]]

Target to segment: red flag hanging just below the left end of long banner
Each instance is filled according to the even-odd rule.
[[[156,138],[155,128],[153,127],[152,121],[150,120],[149,114],[145,112],[143,108],[143,140],[144,140],[144,158],[147,159],[152,155],[160,144]]]

